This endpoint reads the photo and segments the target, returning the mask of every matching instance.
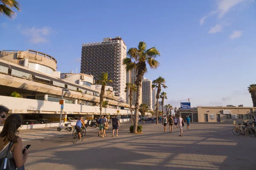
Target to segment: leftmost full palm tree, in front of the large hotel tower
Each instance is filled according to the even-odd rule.
[[[99,79],[96,82],[97,85],[102,85],[100,95],[99,95],[100,116],[102,115],[102,104],[103,104],[103,99],[104,99],[104,94],[105,94],[105,86],[109,82],[112,82],[112,80],[108,80],[108,73],[102,73],[102,75],[99,76]]]

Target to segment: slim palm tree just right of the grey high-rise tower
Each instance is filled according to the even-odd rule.
[[[158,99],[159,99],[159,94],[161,92],[161,88],[167,88],[167,86],[165,85],[165,79],[163,77],[158,77],[157,79],[153,80],[152,82],[152,88],[157,88],[157,95],[156,95],[156,112],[157,112],[157,118],[158,118]],[[158,124],[158,119],[156,124]]]

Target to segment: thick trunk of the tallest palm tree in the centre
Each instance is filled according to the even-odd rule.
[[[141,88],[141,82],[142,82],[142,78],[143,75],[145,73],[146,70],[146,63],[145,62],[139,62],[138,63],[138,69],[137,69],[137,78],[135,81],[135,85],[137,85],[137,93],[136,93],[136,103],[135,103],[135,113],[134,113],[134,131],[133,133],[137,133],[137,126],[138,126],[138,118],[139,118],[139,106],[140,106],[140,88]]]

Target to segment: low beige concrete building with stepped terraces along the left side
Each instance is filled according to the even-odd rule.
[[[19,56],[20,51],[0,51],[0,104],[8,107],[9,113],[18,113],[24,119],[44,118],[57,122],[60,120],[61,111],[59,101],[64,92],[64,121],[67,116],[76,117],[78,114],[87,119],[99,117],[100,93],[96,85],[93,85],[93,77],[85,74],[57,74],[57,61],[53,57],[38,51],[30,54],[29,51],[33,50],[26,53],[22,51],[23,56]],[[31,62],[27,63],[27,60]],[[37,67],[34,67],[35,63],[38,64]],[[48,71],[48,68],[52,71]],[[64,79],[61,79],[61,76],[64,76]],[[85,77],[79,79],[82,76]],[[68,89],[68,92],[63,89]],[[14,91],[23,97],[10,96]],[[104,95],[104,100],[108,100],[109,106],[102,113],[112,117],[118,114],[119,110],[121,119],[127,119],[131,115],[130,106],[120,103],[119,97],[109,93],[111,87],[106,89]]]

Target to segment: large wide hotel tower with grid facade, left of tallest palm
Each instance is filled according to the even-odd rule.
[[[102,42],[82,44],[81,73],[99,79],[102,72],[108,73],[108,83],[116,91],[116,96],[126,99],[126,69],[122,60],[126,58],[126,45],[121,37],[104,38]]]

